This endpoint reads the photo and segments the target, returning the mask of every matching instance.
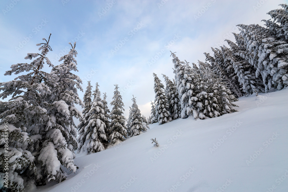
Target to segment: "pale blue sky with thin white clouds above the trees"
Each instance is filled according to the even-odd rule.
[[[238,33],[237,24],[260,24],[266,13],[287,0],[2,0],[0,1],[0,82],[12,64],[29,63],[27,53],[39,53],[37,43],[48,39],[52,64],[76,42],[77,69],[85,92],[87,81],[100,85],[110,104],[115,84],[129,113],[136,97],[141,113],[149,117],[154,101],[156,73],[174,78],[170,51],[180,60],[205,61],[204,52],[227,45]],[[49,67],[43,70],[50,72]],[[78,91],[80,98],[84,92]],[[82,111],[81,107],[78,109]],[[111,106],[110,106],[111,109]]]

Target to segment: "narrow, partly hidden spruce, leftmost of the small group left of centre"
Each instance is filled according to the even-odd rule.
[[[91,100],[91,95],[92,95],[92,86],[90,84],[90,81],[88,81],[88,86],[86,88],[83,102],[84,102],[84,109],[82,111],[83,114],[83,119],[80,120],[79,125],[78,125],[78,149],[81,149],[82,146],[84,145],[84,142],[86,141],[86,134],[88,132],[85,132],[85,127],[88,125],[88,112],[91,109],[92,106],[92,100]]]

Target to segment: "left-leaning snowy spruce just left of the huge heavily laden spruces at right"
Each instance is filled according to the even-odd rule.
[[[242,85],[242,91],[246,96],[253,94],[254,89],[257,92],[264,92],[263,82],[255,76],[256,69],[250,65],[249,61],[241,57],[241,49],[238,45],[230,40],[226,40],[231,49],[223,52],[224,60],[230,60],[238,81]]]

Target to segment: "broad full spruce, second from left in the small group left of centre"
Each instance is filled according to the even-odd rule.
[[[104,151],[105,147],[103,143],[107,142],[105,133],[106,117],[98,86],[98,83],[96,83],[96,89],[93,93],[94,100],[92,102],[91,109],[87,114],[89,117],[88,125],[84,128],[86,140],[80,149],[84,151],[87,150],[89,154]]]

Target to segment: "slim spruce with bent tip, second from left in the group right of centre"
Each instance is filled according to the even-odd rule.
[[[163,75],[163,74],[162,74]],[[180,117],[181,106],[179,105],[179,95],[176,90],[176,85],[166,75],[163,75],[166,83],[165,95],[169,103],[169,113],[172,120]]]

